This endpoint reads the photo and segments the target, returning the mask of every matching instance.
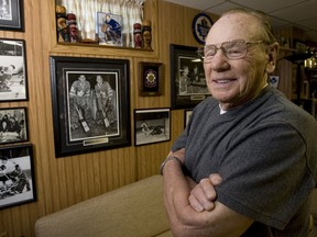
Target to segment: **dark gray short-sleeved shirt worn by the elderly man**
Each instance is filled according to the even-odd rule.
[[[218,201],[255,221],[243,236],[306,236],[317,122],[278,90],[266,87],[221,115],[218,102],[206,99],[172,150],[183,147],[188,174],[199,182],[219,173]]]

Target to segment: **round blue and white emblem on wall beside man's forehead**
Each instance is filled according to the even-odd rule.
[[[192,25],[193,34],[199,44],[205,45],[205,40],[211,25],[212,20],[206,13],[201,12],[194,18]]]

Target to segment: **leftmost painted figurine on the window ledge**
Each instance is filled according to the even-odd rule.
[[[70,42],[69,31],[66,24],[66,8],[63,5],[56,5],[56,27],[57,27],[57,41]]]

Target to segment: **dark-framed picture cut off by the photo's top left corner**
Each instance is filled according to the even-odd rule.
[[[23,0],[0,1],[0,30],[24,32]]]

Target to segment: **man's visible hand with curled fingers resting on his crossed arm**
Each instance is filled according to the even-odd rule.
[[[209,178],[200,180],[190,191],[188,198],[190,206],[196,212],[212,211],[217,193],[215,187],[221,183],[221,177],[218,173],[211,173]]]

